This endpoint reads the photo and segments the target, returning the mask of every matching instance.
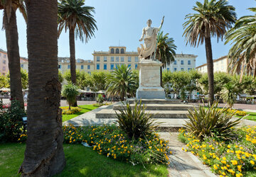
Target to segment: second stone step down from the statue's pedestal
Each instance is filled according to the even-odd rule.
[[[130,106],[134,108],[134,103],[131,103]],[[146,110],[193,110],[193,105],[188,104],[144,104]],[[198,108],[198,107],[196,107]],[[122,103],[116,103],[113,106],[113,110],[124,110],[126,106]]]

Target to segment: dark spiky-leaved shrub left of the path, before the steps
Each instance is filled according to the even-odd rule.
[[[145,138],[146,135],[151,135],[154,129],[158,126],[154,123],[152,115],[145,113],[146,108],[142,102],[134,102],[132,107],[129,103],[124,104],[124,110],[117,114],[117,125],[129,139]]]

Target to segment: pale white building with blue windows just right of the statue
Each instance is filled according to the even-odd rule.
[[[174,57],[174,62],[171,62],[169,65],[167,65],[164,70],[170,72],[188,72],[189,70],[196,68],[196,57],[198,56],[189,54],[176,54]]]

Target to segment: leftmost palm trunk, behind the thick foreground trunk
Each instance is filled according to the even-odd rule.
[[[4,9],[4,27],[6,31],[6,45],[9,59],[11,98],[18,100],[21,103],[21,108],[24,108],[21,86],[21,62],[18,50],[16,10],[13,8],[11,8],[11,17],[9,21],[6,14],[6,9]]]

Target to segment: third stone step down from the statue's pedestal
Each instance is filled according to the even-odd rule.
[[[159,119],[186,119],[188,110],[146,110],[146,113],[153,114],[153,118]],[[96,113],[96,118],[116,118],[119,110],[103,109]]]

